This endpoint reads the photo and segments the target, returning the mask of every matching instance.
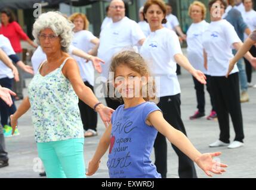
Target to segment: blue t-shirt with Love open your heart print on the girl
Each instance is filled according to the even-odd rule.
[[[110,178],[161,178],[150,160],[158,131],[146,124],[156,110],[160,109],[152,102],[115,110],[107,161]]]

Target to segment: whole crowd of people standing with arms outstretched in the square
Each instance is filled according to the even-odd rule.
[[[240,103],[249,101],[247,89],[254,86],[256,13],[252,0],[236,5],[232,0],[211,0],[208,11],[210,23],[205,20],[205,5],[194,1],[188,11],[192,24],[184,34],[171,5],[162,0],[147,0],[138,23],[125,16],[124,1],[112,0],[99,38],[88,30],[86,15],[76,12],[66,17],[50,11],[33,24],[35,42],[8,9],[1,11],[0,167],[8,166],[4,138],[19,134],[18,119],[31,109],[38,154],[48,178],[93,175],[107,148],[110,178],[166,178],[166,138],[178,156],[180,178],[197,178],[194,163],[208,176],[225,172],[227,165],[213,159],[220,152],[202,154],[186,137],[177,75],[180,68],[192,75],[198,110],[191,120],[205,116],[206,85],[211,100],[206,119],[217,119],[220,127],[219,138],[209,147],[242,147]],[[19,57],[20,39],[36,47],[33,68]],[[187,57],[181,50],[183,41]],[[22,83],[21,71],[34,74],[27,97],[15,83]],[[94,71],[101,75],[107,106],[94,93]],[[85,175],[84,138],[98,135],[97,114],[106,131]],[[232,143],[229,115],[235,129]],[[153,148],[155,164],[150,160]]]

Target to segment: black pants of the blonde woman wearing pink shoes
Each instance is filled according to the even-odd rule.
[[[211,105],[212,105],[212,111],[215,111],[215,102],[214,102],[214,97],[212,96],[211,93],[211,76],[205,75],[206,76],[206,90],[208,91],[211,99]],[[193,81],[195,84],[195,90],[196,90],[196,100],[198,101],[198,110],[201,113],[205,113],[205,85],[200,83],[198,80],[196,80],[195,77],[193,77]]]

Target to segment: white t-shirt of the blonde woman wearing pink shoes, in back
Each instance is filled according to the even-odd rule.
[[[187,58],[195,69],[208,74],[203,66],[203,45],[202,37],[205,30],[208,28],[209,23],[205,20],[200,23],[192,23],[187,30]]]

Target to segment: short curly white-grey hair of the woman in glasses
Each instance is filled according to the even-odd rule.
[[[44,29],[51,29],[55,34],[61,37],[61,50],[68,52],[70,43],[73,38],[73,28],[74,24],[67,20],[60,12],[58,11],[49,11],[41,14],[38,19],[36,19],[33,24],[32,34],[35,37],[36,43],[40,45],[38,34]]]

